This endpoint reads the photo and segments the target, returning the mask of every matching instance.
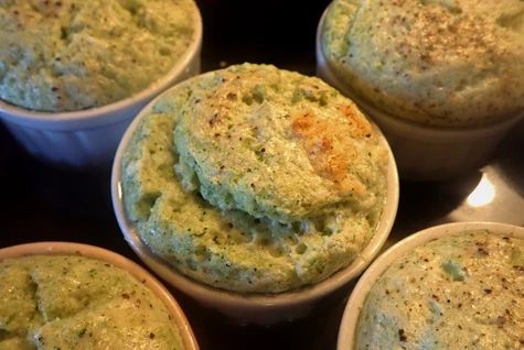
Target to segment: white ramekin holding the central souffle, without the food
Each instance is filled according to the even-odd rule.
[[[161,98],[161,96],[159,98]],[[293,292],[277,294],[242,294],[228,292],[199,283],[177,272],[161,258],[156,256],[140,240],[136,225],[126,217],[120,184],[124,152],[141,119],[151,111],[152,106],[159,98],[149,103],[140,112],[122,136],[113,165],[111,196],[115,215],[129,245],[152,271],[173,287],[196,299],[202,305],[214,308],[239,324],[271,325],[308,315],[321,299],[347,286],[352,280],[364,271],[375,255],[377,255],[393,227],[397,212],[399,193],[395,160],[385,138],[382,139],[389,155],[386,205],[374,237],[350,266],[334,273],[328,280],[316,285]]]

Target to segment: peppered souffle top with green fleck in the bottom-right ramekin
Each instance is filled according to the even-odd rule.
[[[522,349],[524,240],[467,231],[415,248],[377,280],[355,349]]]

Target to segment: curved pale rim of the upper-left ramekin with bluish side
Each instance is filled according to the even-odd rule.
[[[89,108],[77,111],[66,112],[43,112],[18,107],[0,100],[0,119],[6,119],[15,124],[23,124],[30,128],[46,128],[54,124],[63,125],[69,123],[85,123],[85,128],[109,124],[127,119],[126,113],[119,111],[132,108],[140,103],[146,103],[154,96],[159,95],[183,74],[191,62],[200,55],[202,48],[203,24],[197,4],[193,1],[192,11],[194,12],[194,32],[193,40],[188,48],[174,63],[174,66],[160,79],[152,81],[146,89],[133,94],[125,99],[111,102],[109,105]],[[75,129],[76,127],[72,127]]]

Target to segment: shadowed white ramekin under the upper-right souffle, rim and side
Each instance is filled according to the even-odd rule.
[[[355,97],[347,84],[330,67],[322,50],[322,28],[317,29],[317,74],[355,101],[373,119],[392,146],[402,179],[440,181],[484,165],[500,141],[524,118],[524,111],[500,123],[438,128],[403,120]]]

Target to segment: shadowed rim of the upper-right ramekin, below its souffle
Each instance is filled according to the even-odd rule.
[[[516,114],[509,116],[500,121],[494,121],[485,124],[463,125],[463,127],[438,127],[417,123],[407,119],[402,119],[396,116],[389,114],[386,111],[373,106],[365,99],[359,98],[352,89],[344,84],[334,73],[328,58],[325,57],[324,48],[322,45],[322,29],[324,26],[325,17],[332,3],[330,3],[320,18],[316,33],[316,57],[317,57],[317,74],[327,79],[327,83],[333,85],[343,95],[355,101],[357,106],[362,106],[365,112],[372,114],[373,119],[379,122],[381,127],[387,124],[389,128],[396,130],[403,130],[406,134],[415,133],[424,140],[431,138],[431,140],[439,140],[441,142],[449,142],[450,138],[464,140],[480,139],[485,134],[498,134],[507,130],[509,127],[516,124],[520,120],[524,119],[524,110]],[[411,135],[413,136],[413,135]]]

